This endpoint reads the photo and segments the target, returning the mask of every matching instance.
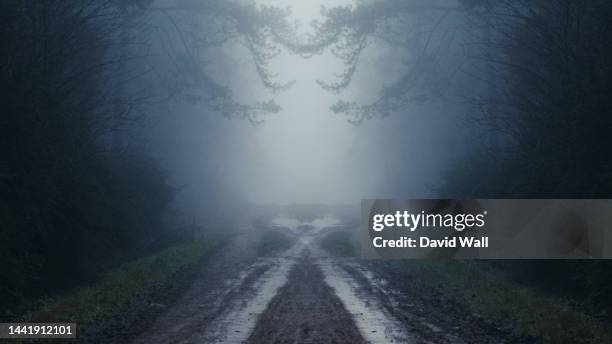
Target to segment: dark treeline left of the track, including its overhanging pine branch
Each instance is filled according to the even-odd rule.
[[[215,0],[156,6],[0,4],[2,313],[177,237],[168,220],[176,188],[134,138],[155,109],[189,100],[251,122],[278,111],[238,103],[203,61],[207,49],[244,38],[262,84],[283,88],[266,64],[269,27],[288,27],[285,12]]]

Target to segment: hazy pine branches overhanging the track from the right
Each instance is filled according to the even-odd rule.
[[[386,0],[325,8],[324,20],[314,23],[316,34],[302,50],[320,53],[331,46],[332,53],[344,63],[337,81],[318,81],[334,93],[351,84],[368,48],[383,43],[400,50],[405,71],[380,91],[378,99],[370,104],[339,100],[331,107],[358,125],[401,112],[407,104],[444,99],[452,84],[448,73],[457,66],[456,62],[449,64],[457,58],[449,51],[455,49],[451,47],[456,45],[458,18],[468,7],[465,3],[449,6],[445,1]]]

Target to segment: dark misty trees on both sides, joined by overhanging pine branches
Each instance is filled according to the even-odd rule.
[[[0,3],[2,310],[170,241],[174,189],[130,133],[148,111],[177,100],[253,123],[279,111],[273,102],[238,103],[205,72],[203,52],[232,39],[244,39],[261,84],[274,91],[290,86],[267,70],[281,45],[304,56],[333,46],[345,70],[320,81],[332,92],[350,85],[372,42],[402,51],[406,73],[374,102],[331,110],[353,123],[428,102],[465,113],[483,139],[448,171],[441,197],[612,195],[609,1],[358,1],[325,9],[306,41],[284,10],[160,2]],[[612,308],[605,261],[500,266]]]

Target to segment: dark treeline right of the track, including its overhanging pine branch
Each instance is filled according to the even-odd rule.
[[[348,87],[373,42],[405,61],[405,73],[374,102],[339,101],[334,112],[359,124],[416,116],[419,105],[445,102],[453,104],[452,116],[465,116],[476,143],[466,143],[467,153],[436,189],[439,197],[612,195],[609,1],[364,0],[324,16],[312,49],[331,44],[346,66],[324,88]],[[523,283],[612,310],[606,261],[497,266]]]

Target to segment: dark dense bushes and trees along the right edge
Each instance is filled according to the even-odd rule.
[[[609,198],[612,195],[612,4],[488,2],[479,61],[494,91],[479,123],[504,139],[449,171],[442,197]],[[481,26],[482,27],[482,26]],[[491,62],[493,61],[493,62]],[[515,279],[612,310],[607,261],[496,262]]]

